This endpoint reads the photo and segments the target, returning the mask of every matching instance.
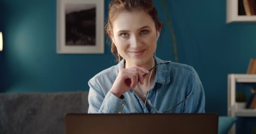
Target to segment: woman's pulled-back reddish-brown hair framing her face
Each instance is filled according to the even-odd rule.
[[[117,48],[111,39],[112,22],[118,13],[132,10],[143,10],[148,13],[155,22],[156,30],[158,30],[161,26],[161,23],[157,18],[157,10],[152,0],[113,0],[109,4],[109,13],[107,24],[105,26],[105,32],[111,40],[111,52],[116,57],[117,62],[119,62]],[[120,59],[123,59],[123,57],[120,56]]]

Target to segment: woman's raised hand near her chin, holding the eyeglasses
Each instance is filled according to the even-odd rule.
[[[147,69],[138,65],[135,67],[121,69],[112,88],[110,89],[110,92],[119,98],[123,93],[127,92],[131,88],[135,88],[138,82],[144,84],[143,80],[148,75],[143,77],[141,72],[142,74],[149,74]]]

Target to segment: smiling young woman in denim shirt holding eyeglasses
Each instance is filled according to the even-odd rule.
[[[118,64],[89,80],[88,113],[205,112],[194,68],[155,57],[161,27],[152,0],[109,4],[106,33]]]

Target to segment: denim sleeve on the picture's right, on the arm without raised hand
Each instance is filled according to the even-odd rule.
[[[189,73],[186,95],[192,95],[185,102],[185,113],[205,113],[205,93],[203,85],[194,68]]]

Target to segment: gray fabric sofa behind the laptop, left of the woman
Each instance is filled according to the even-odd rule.
[[[65,114],[87,111],[88,92],[0,94],[0,134],[65,134]]]

